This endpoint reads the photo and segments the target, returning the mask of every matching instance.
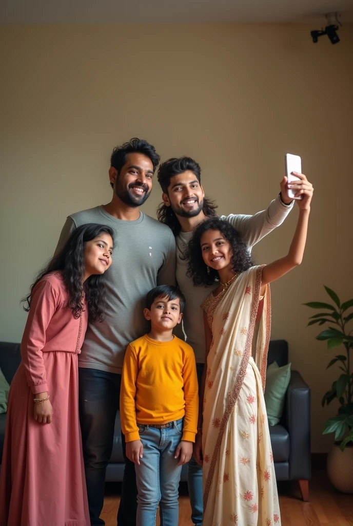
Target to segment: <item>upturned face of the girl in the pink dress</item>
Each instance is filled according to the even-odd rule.
[[[104,274],[111,265],[112,251],[113,240],[106,232],[87,241],[84,248],[85,279],[92,274]]]

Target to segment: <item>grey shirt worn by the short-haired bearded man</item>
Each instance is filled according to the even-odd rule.
[[[107,270],[105,320],[88,326],[79,367],[121,374],[128,344],[149,331],[143,316],[147,292],[175,285],[175,239],[169,227],[142,212],[136,221],[122,221],[97,206],[67,218],[55,252],[85,223],[112,227],[115,249]]]

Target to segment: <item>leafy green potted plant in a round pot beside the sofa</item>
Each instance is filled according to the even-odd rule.
[[[344,354],[336,355],[328,363],[327,369],[336,364],[341,373],[321,402],[323,407],[335,399],[339,402],[338,414],[329,418],[323,428],[324,434],[335,433],[335,443],[327,458],[327,474],[336,489],[353,493],[353,329],[349,330],[353,312],[347,312],[353,307],[353,299],[341,304],[336,292],[328,287],[325,289],[335,305],[320,301],[305,305],[321,311],[310,316],[308,326],[328,324],[328,328],[320,332],[316,339],[326,340],[328,349],[341,345],[345,348]]]

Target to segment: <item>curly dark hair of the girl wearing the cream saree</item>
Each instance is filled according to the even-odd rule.
[[[207,230],[220,231],[224,239],[229,242],[234,272],[238,274],[253,266],[249,247],[240,232],[228,221],[224,221],[219,217],[206,219],[195,228],[184,256],[185,259],[188,259],[186,276],[192,278],[195,287],[212,285],[216,279],[219,279],[218,272],[213,268],[210,267],[210,273],[207,272],[207,265],[202,258],[201,237]]]

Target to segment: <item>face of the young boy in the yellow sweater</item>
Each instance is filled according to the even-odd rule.
[[[159,330],[173,329],[181,322],[180,301],[167,297],[156,298],[150,309],[144,309],[144,317],[151,321],[151,325]]]

